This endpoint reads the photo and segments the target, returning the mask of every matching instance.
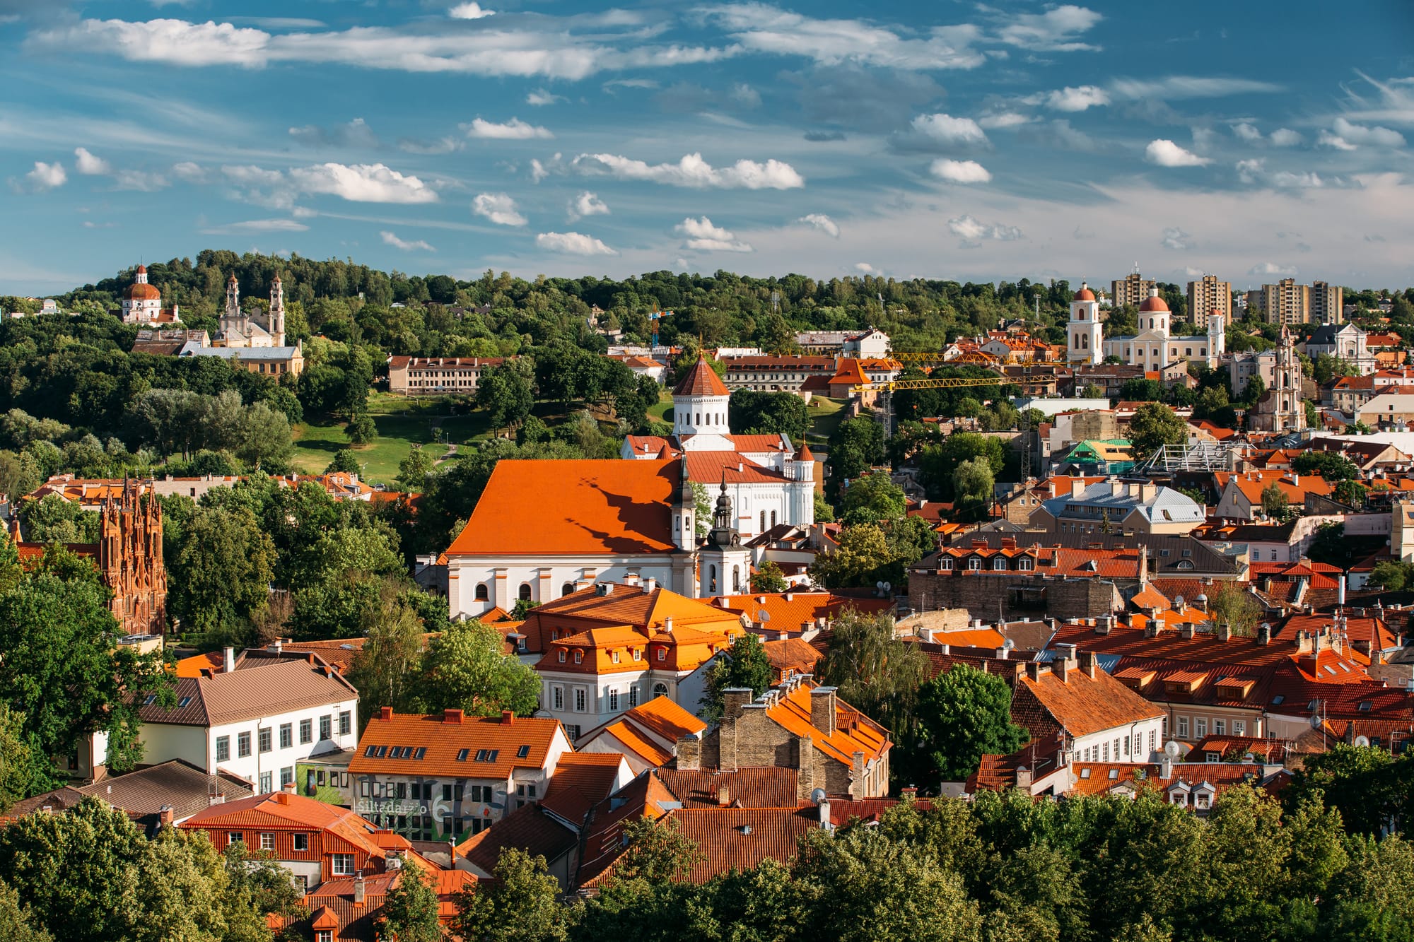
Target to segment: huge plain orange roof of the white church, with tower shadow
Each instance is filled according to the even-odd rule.
[[[499,461],[448,556],[666,553],[677,461]]]

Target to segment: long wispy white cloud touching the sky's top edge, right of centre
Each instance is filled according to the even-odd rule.
[[[970,69],[987,61],[970,48],[974,25],[933,27],[926,38],[905,38],[864,20],[816,20],[765,3],[731,3],[704,13],[737,44],[766,55],[799,55],[822,65],[858,62],[895,69]]]

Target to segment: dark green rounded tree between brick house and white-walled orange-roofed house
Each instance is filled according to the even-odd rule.
[[[1029,737],[1011,721],[1007,682],[966,663],[919,689],[918,716],[932,767],[945,782],[971,775],[983,755],[1015,752]]]

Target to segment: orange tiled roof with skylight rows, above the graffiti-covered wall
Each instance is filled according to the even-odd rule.
[[[564,738],[559,720],[458,714],[396,713],[385,707],[359,737],[349,772],[506,779],[518,768],[544,768],[556,740]],[[481,750],[485,757],[478,761]]]

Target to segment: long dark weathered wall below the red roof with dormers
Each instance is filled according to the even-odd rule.
[[[1055,578],[1027,573],[926,573],[908,578],[908,604],[923,608],[966,608],[986,622],[1007,618],[1096,618],[1123,608],[1120,588],[1137,580]]]

